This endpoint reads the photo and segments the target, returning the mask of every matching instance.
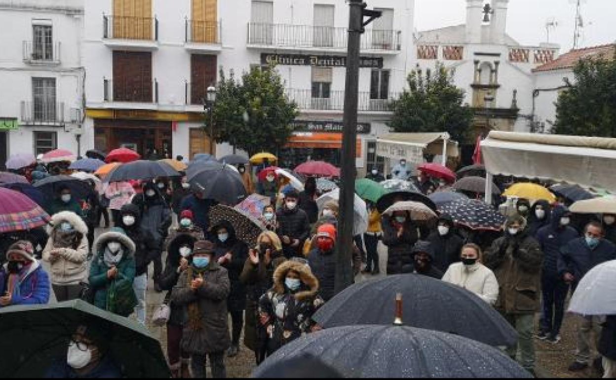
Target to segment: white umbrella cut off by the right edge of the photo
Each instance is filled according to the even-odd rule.
[[[578,283],[569,311],[583,315],[616,314],[616,260],[596,265]]]

